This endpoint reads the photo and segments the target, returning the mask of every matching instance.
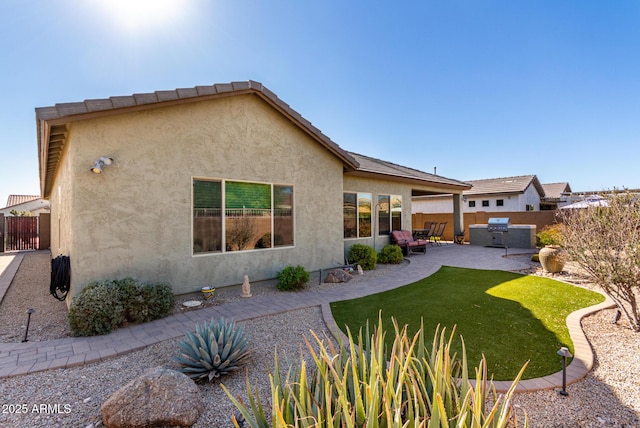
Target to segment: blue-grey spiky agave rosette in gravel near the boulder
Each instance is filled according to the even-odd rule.
[[[224,318],[196,324],[178,344],[180,353],[174,361],[179,371],[198,381],[215,378],[239,369],[250,358],[249,342],[242,326]]]

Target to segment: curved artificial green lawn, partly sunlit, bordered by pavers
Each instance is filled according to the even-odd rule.
[[[511,380],[527,360],[523,379],[555,373],[562,368],[561,346],[573,353],[566,317],[571,312],[601,303],[604,297],[564,282],[497,270],[443,266],[416,283],[360,299],[331,304],[338,326],[377,325],[379,311],[387,331],[391,317],[415,333],[424,319],[425,337],[433,337],[438,324],[447,331],[456,326],[467,350],[471,372],[482,354],[494,380]],[[462,348],[456,340],[455,349]]]

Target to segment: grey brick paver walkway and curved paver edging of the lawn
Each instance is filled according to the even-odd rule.
[[[241,321],[310,306],[322,306],[325,323],[330,330],[337,332],[337,326],[329,310],[330,302],[410,284],[433,274],[442,265],[509,271],[528,267],[521,262],[503,257],[505,252],[506,250],[501,248],[470,245],[434,246],[427,249],[426,255],[411,256],[411,263],[395,271],[393,275],[375,277],[359,283],[357,287],[335,287],[321,291],[253,297],[121,328],[105,336],[65,338],[47,342],[0,343],[0,378],[101,361],[164,340],[182,337],[186,331],[193,330],[195,323],[218,317]],[[531,250],[509,249],[508,252],[516,254]],[[0,298],[9,287],[21,260],[21,254],[0,256]],[[593,366],[593,353],[582,332],[580,319],[588,313],[610,306],[611,302],[607,301],[577,311],[567,318],[571,339],[575,345],[575,356],[567,369],[567,384],[582,379]],[[495,384],[499,391],[505,391],[510,386],[510,382]],[[517,390],[535,391],[561,386],[562,374],[556,373],[521,381]]]

